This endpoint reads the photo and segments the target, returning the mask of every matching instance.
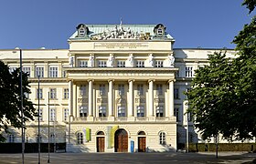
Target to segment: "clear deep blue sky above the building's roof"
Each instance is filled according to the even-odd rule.
[[[84,24],[163,23],[175,47],[228,47],[250,23],[242,0],[2,0],[0,48],[69,48]]]

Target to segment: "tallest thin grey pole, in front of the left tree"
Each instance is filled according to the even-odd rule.
[[[20,67],[20,110],[21,110],[21,142],[22,142],[22,164],[24,164],[25,151],[25,127],[24,127],[24,111],[23,111],[23,87],[22,87],[22,49],[19,49],[19,67]]]

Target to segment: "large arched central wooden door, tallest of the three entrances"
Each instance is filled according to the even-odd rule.
[[[124,129],[118,129],[114,134],[114,151],[128,152],[128,134]]]

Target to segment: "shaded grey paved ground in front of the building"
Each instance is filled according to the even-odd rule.
[[[0,154],[1,164],[22,163],[21,154]],[[48,163],[48,153],[40,154],[40,163]],[[215,153],[50,153],[50,163],[54,164],[83,164],[83,163],[252,163],[256,153],[219,152]],[[26,153],[25,163],[38,163],[37,153]]]

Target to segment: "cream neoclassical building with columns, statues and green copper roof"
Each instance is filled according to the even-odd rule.
[[[203,142],[185,115],[184,92],[194,70],[220,49],[173,48],[162,24],[80,24],[68,42],[69,49],[22,50],[26,96],[41,128],[38,136],[37,118],[27,122],[26,142],[50,138],[69,152],[176,151],[187,138]],[[10,71],[19,67],[19,52],[0,50]],[[6,142],[21,142],[20,130],[11,132]]]

